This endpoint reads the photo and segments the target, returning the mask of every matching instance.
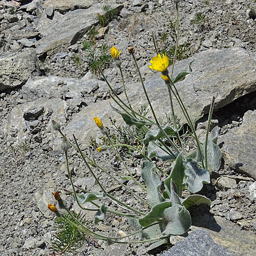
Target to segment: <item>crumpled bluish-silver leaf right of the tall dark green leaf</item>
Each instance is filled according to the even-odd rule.
[[[188,190],[191,193],[197,193],[202,189],[204,183],[210,183],[210,173],[208,170],[200,168],[195,161],[188,162],[186,165],[185,175],[187,176]]]

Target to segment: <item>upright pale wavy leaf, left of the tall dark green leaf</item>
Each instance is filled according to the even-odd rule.
[[[141,169],[141,177],[147,187],[147,201],[151,205],[156,205],[164,201],[159,189],[161,181],[155,172],[156,165],[152,162],[144,161]]]

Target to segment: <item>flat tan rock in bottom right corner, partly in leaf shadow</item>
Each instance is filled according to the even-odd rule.
[[[212,217],[209,214],[192,218],[191,230],[194,231],[199,228],[206,228],[215,243],[226,248],[233,256],[255,255],[256,234],[252,231],[241,230],[239,226],[234,225],[231,221],[219,216]],[[212,256],[214,255],[219,254],[212,254]]]

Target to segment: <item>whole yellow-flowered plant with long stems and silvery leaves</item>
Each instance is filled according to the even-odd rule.
[[[175,1],[175,3],[178,17],[179,1]],[[179,27],[178,23],[177,18],[177,28]],[[177,32],[175,52],[177,52],[178,49],[178,34],[179,33]],[[186,106],[180,97],[178,88],[176,87],[177,82],[185,79],[185,77],[192,72],[191,64],[193,61],[189,63],[187,71],[182,71],[176,77],[172,77],[172,75],[169,75],[169,71],[167,69],[169,66],[168,57],[166,54],[161,55],[158,53],[159,51],[156,47],[154,37],[153,42],[157,56],[152,58],[150,61],[151,65],[149,67],[156,72],[160,72],[160,76],[163,78],[163,82],[167,89],[166,92],[168,92],[167,96],[170,102],[169,109],[171,118],[168,117],[166,121],[163,121],[162,118],[159,119],[154,111],[134,55],[135,50],[133,47],[130,47],[128,50],[137,69],[141,86],[147,99],[148,109],[150,109],[150,115],[152,115],[151,117],[147,117],[146,108],[142,108],[142,111],[135,111],[132,106],[132,102],[130,102],[125,89],[120,51],[115,47],[111,48],[111,56],[115,61],[116,67],[119,68],[120,75],[122,77],[125,100],[121,99],[116,94],[113,87],[104,76],[103,71],[98,66],[100,74],[106,84],[108,84],[110,96],[117,104],[116,108],[111,105],[112,109],[116,113],[120,114],[126,125],[136,127],[135,129],[141,131],[142,135],[142,148],[135,147],[131,144],[115,144],[116,141],[111,136],[110,130],[103,125],[98,117],[94,117],[94,121],[102,136],[104,136],[109,142],[109,146],[102,145],[98,148],[98,151],[102,152],[111,148],[116,157],[122,163],[125,170],[124,174],[121,172],[114,172],[115,175],[113,175],[111,170],[102,167],[98,164],[93,155],[90,157],[86,153],[82,152],[74,135],[72,142],[61,132],[60,125],[56,125],[56,122],[53,121],[54,130],[57,130],[63,139],[61,148],[65,153],[67,172],[73,188],[71,193],[73,194],[78,206],[85,211],[96,211],[94,216],[95,225],[99,222],[104,222],[108,215],[117,215],[125,218],[127,223],[135,229],[134,232],[129,234],[124,233],[120,237],[117,237],[115,234],[106,235],[105,233],[94,231],[94,229],[88,227],[88,225],[84,225],[81,221],[75,218],[74,214],[70,212],[67,204],[62,202],[57,192],[54,193],[54,197],[59,204],[58,207],[67,211],[71,218],[71,223],[79,227],[79,230],[88,234],[88,236],[103,240],[108,244],[157,241],[157,246],[159,246],[165,243],[170,236],[181,235],[187,232],[191,226],[189,208],[198,204],[210,205],[210,200],[208,198],[202,195],[197,195],[196,193],[202,189],[204,184],[210,183],[210,172],[212,170],[217,171],[221,166],[221,151],[217,145],[220,129],[216,126],[211,133],[209,133],[215,97],[212,98],[212,102],[210,104],[205,141],[204,143],[201,143],[198,139],[195,128],[195,123],[198,119],[191,119]],[[184,114],[187,125],[190,127],[191,133],[193,134],[191,139],[195,140],[194,144],[196,147],[193,152],[186,151],[186,141],[182,140],[180,135],[182,126],[175,115],[173,98],[177,100],[181,111]],[[113,123],[115,125],[114,121]],[[116,127],[118,126],[116,125]],[[124,133],[125,136],[129,134],[125,130],[120,131],[120,133],[122,135]],[[128,138],[129,143],[131,143],[130,139],[131,138]],[[94,177],[95,182],[99,187],[97,191],[89,191],[79,188],[79,191],[77,192],[77,186],[74,185],[69,167],[68,151],[70,147],[77,150],[92,177]],[[131,151],[137,152],[141,157],[143,157],[141,179],[138,179],[137,175],[133,175],[130,167],[121,158],[118,152],[119,147],[127,147]],[[172,167],[164,169],[158,166],[154,159],[166,162],[169,166],[170,163],[172,163]],[[102,180],[101,174],[99,176],[99,171],[104,173],[108,178],[111,178],[115,184],[120,186],[123,193],[130,195],[134,200],[137,200],[138,203],[130,204],[129,202],[120,200],[117,194],[112,193],[112,191],[110,192],[106,186],[105,179]],[[127,180],[129,180],[128,183],[124,182]],[[137,188],[135,190],[133,187],[126,184],[133,184],[133,187],[135,185]],[[184,189],[189,191],[189,196],[184,197],[184,193],[182,193]],[[118,191],[118,195],[119,194],[120,191]],[[87,202],[92,203],[95,208],[86,208],[86,205],[84,204]],[[115,204],[112,202],[115,202]],[[137,208],[138,205],[143,205],[143,207]],[[55,206],[48,205],[48,208],[53,211],[58,218],[62,217],[61,212],[58,211]],[[138,238],[135,238],[137,235],[140,236],[139,241]],[[130,240],[127,242],[123,240],[127,238],[132,239],[132,241]]]

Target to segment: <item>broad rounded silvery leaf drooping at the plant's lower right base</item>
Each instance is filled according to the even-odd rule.
[[[191,226],[189,211],[182,205],[173,205],[163,211],[164,224],[166,225],[162,234],[184,234]]]

